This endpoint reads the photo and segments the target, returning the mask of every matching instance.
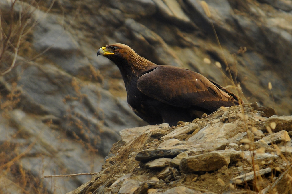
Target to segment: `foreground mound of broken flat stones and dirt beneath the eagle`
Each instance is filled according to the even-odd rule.
[[[102,170],[68,194],[292,193],[292,116],[265,110],[220,108],[177,127],[124,129]]]

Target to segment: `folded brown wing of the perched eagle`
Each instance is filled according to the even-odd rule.
[[[233,97],[206,77],[179,67],[160,65],[146,70],[137,87],[145,95],[177,107],[216,111],[234,105]]]

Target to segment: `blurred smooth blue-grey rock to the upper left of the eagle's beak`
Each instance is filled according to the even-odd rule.
[[[72,75],[90,75],[92,73],[90,67],[85,67],[85,64],[88,66],[90,62],[82,54],[81,48],[72,34],[65,31],[62,18],[54,14],[46,16],[40,14],[38,17],[36,20],[39,20],[39,23],[33,33],[34,48],[39,52],[50,48],[46,54],[58,66]]]

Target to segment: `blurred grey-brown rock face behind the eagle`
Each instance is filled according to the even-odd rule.
[[[245,102],[291,115],[292,1],[206,3],[210,18],[197,0],[0,0],[2,192],[69,192],[91,177],[40,177],[97,172],[120,130],[147,125],[106,44],[236,90],[231,75]]]

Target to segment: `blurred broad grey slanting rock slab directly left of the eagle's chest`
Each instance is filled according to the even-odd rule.
[[[85,142],[95,144],[94,147],[104,155],[109,152],[112,144],[120,139],[117,132],[111,128],[116,128],[117,123],[119,123],[119,126],[130,124],[126,123],[124,119],[133,116],[131,110],[113,99],[108,91],[97,90],[94,84],[78,87],[77,85],[80,83],[78,79],[62,71],[57,71],[52,65],[41,67],[36,63],[30,63],[23,70],[15,70],[19,70],[15,72],[15,76],[25,73],[18,79],[18,83],[22,85],[19,90],[22,92],[23,100],[20,105],[23,109],[34,114],[52,115],[54,118],[58,118],[55,121],[59,127],[67,133],[75,133]],[[41,76],[44,76],[44,78],[41,78]],[[36,83],[33,80],[37,80]],[[79,95],[75,93],[76,87],[79,90]],[[71,97],[68,95],[71,95]],[[101,105],[98,105],[99,103],[96,101],[98,96],[102,97]],[[112,106],[116,106],[115,104],[120,106],[114,110]],[[100,120],[94,119],[94,116],[100,112],[96,107],[102,109],[112,107],[112,109],[103,111],[103,114],[107,116],[103,123],[111,128],[104,126],[103,130],[97,130],[102,127],[102,118],[99,118]],[[115,116],[113,122],[112,117],[117,114],[117,111],[123,111],[124,118]],[[90,125],[86,126],[86,123],[90,123]],[[108,140],[107,137],[109,136],[111,138]],[[101,139],[97,141],[96,138],[99,137]]]

